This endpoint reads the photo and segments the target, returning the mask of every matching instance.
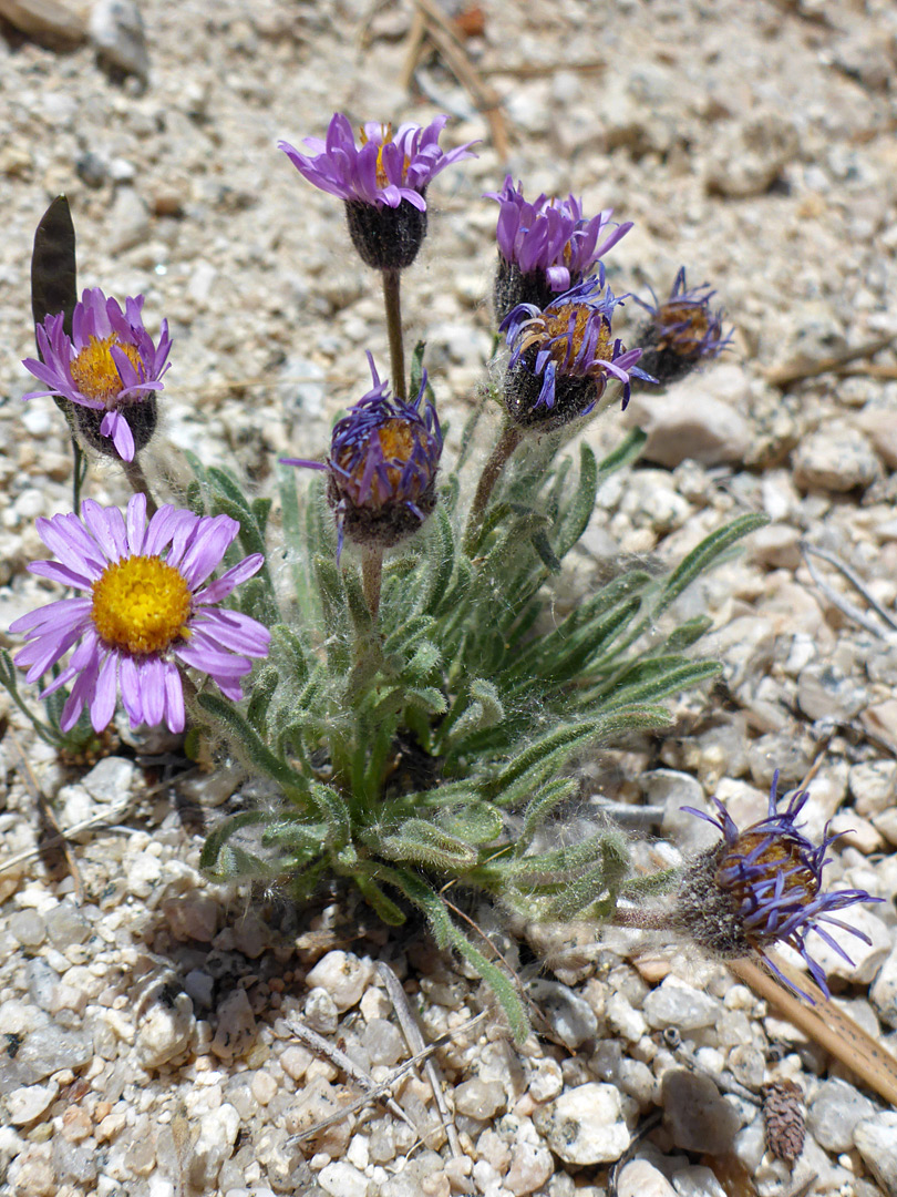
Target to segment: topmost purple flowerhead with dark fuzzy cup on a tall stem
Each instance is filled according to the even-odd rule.
[[[277,147],[310,183],[346,201],[349,235],[365,265],[401,271],[415,260],[427,235],[431,180],[451,163],[474,157],[472,142],[448,153],[440,148],[447,120],[438,116],[426,128],[401,124],[395,135],[391,124],[368,121],[356,145],[348,117],[335,113],[325,141],[305,138],[310,154],[288,141]]]

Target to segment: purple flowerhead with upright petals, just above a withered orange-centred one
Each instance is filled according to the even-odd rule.
[[[521,303],[544,308],[557,294],[581,282],[594,263],[633,227],[614,224],[612,208],[586,219],[582,202],[539,195],[527,203],[521,184],[511,175],[500,192],[488,192],[499,203],[499,266],[493,299],[501,322]]]

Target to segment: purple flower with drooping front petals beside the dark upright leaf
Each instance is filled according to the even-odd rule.
[[[86,290],[72,316],[72,335],[65,316],[47,316],[37,326],[41,360],[23,365],[49,389],[24,399],[53,395],[77,406],[77,425],[86,439],[122,461],[133,461],[155,429],[157,390],[169,369],[171,348],[167,321],[161,322],[159,345],[144,327],[144,296],[106,299],[99,287]],[[97,413],[103,413],[99,417]]]

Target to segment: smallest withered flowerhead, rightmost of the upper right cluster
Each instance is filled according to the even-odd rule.
[[[710,308],[716,294],[704,282],[700,287],[685,284],[685,267],[679,269],[670,298],[660,303],[636,303],[649,314],[639,329],[639,344],[645,351],[642,367],[659,383],[667,384],[684,378],[702,361],[719,357],[732,342],[732,332],[722,332],[725,312]]]

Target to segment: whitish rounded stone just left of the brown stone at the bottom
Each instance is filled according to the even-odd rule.
[[[612,1084],[579,1084],[536,1110],[536,1130],[565,1163],[603,1163],[617,1160],[631,1136]]]

